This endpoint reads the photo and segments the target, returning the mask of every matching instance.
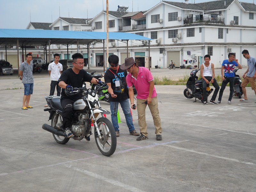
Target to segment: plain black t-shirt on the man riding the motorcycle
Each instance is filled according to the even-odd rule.
[[[83,87],[84,82],[92,81],[92,76],[90,74],[88,74],[84,69],[79,70],[79,73],[76,74],[72,70],[72,68],[69,68],[61,73],[61,76],[60,76],[58,82],[60,82],[60,81],[64,81],[66,84],[68,84],[72,87],[81,88],[81,87]],[[81,98],[82,98],[81,94],[76,94],[74,96],[67,96],[65,93],[65,89],[61,90],[60,100],[72,99],[72,100],[76,101]]]

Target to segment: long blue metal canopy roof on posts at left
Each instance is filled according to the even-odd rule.
[[[106,39],[106,32],[92,31],[60,31],[35,29],[0,29],[0,46],[44,45],[48,44],[90,44],[94,40]],[[150,38],[132,33],[109,32],[108,39],[151,40]]]

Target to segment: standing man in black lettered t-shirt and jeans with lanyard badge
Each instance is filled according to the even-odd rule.
[[[119,58],[117,55],[110,55],[108,57],[108,63],[110,68],[106,71],[104,75],[105,83],[108,85],[108,92],[111,95],[109,98],[110,101],[110,111],[111,111],[111,120],[112,124],[116,131],[116,137],[119,137],[119,126],[117,120],[117,110],[118,103],[120,103],[121,108],[123,109],[126,124],[129,128],[131,135],[138,136],[140,133],[136,132],[132,124],[132,115],[130,112],[130,104],[128,100],[127,93],[125,92],[125,76],[127,71],[120,68],[118,65]]]

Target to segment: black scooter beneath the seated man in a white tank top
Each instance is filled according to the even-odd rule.
[[[200,69],[195,69],[193,71],[191,71],[190,73],[190,77],[188,78],[187,81],[187,88],[184,90],[184,96],[188,99],[192,99],[193,97],[195,97],[195,101],[196,99],[201,100],[201,102],[203,103],[203,79],[199,79],[198,80],[198,76],[196,76],[196,73],[200,71]],[[206,87],[206,94],[207,97],[212,93],[213,89],[210,89],[210,83],[207,84]]]

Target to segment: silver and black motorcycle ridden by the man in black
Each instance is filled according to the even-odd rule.
[[[116,133],[113,124],[104,117],[104,114],[111,114],[106,109],[100,107],[98,92],[108,89],[108,85],[99,82],[99,87],[96,90],[83,88],[74,88],[73,92],[65,91],[67,96],[82,94],[83,97],[73,103],[72,122],[70,130],[74,134],[71,138],[74,140],[90,140],[90,135],[93,133],[96,145],[100,152],[105,156],[111,156],[116,150]],[[67,137],[62,127],[63,108],[60,104],[60,97],[46,96],[45,97],[49,108],[44,111],[49,111],[51,125],[43,124],[42,128],[51,132],[53,138],[59,144],[66,144],[70,138]],[[91,124],[94,126],[92,129]]]

